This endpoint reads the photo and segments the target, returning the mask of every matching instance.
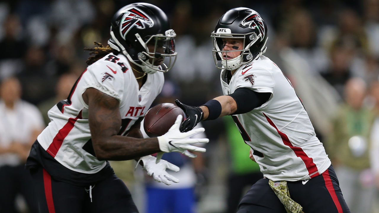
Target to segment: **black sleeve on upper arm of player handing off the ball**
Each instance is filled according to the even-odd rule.
[[[271,97],[271,92],[255,92],[249,88],[237,88],[228,96],[232,97],[237,103],[237,110],[233,113],[234,115],[247,113],[266,103]]]

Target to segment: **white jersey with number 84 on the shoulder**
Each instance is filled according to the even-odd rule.
[[[124,55],[106,55],[87,67],[72,89],[69,99],[53,106],[48,127],[38,136],[41,146],[66,168],[86,174],[100,171],[106,161],[91,154],[92,142],[88,124],[88,105],[82,94],[95,88],[120,102],[122,126],[119,135],[143,117],[163,87],[162,72],[147,75],[139,89],[136,77]]]

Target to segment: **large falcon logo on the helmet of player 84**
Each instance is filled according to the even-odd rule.
[[[120,33],[124,39],[126,34],[128,34],[129,30],[133,27],[142,30],[154,26],[153,20],[137,7],[127,8],[125,11],[122,11],[122,13],[124,13],[124,16],[120,23]]]

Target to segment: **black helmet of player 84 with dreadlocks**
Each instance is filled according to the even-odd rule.
[[[130,62],[141,67],[147,74],[168,72],[176,61],[174,30],[166,14],[149,3],[132,3],[114,14],[111,21],[111,48],[122,52]],[[149,52],[147,44],[153,44]],[[163,48],[164,53],[157,52]],[[152,58],[152,63],[149,59]],[[155,60],[168,58],[168,65],[154,66]]]

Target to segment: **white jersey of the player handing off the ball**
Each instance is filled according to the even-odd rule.
[[[271,97],[254,110],[232,116],[263,176],[273,180],[305,180],[330,166],[323,144],[316,137],[301,100],[279,67],[265,56],[236,70],[229,85],[221,72],[224,95],[237,88],[270,92]],[[247,156],[246,156],[247,158]]]

